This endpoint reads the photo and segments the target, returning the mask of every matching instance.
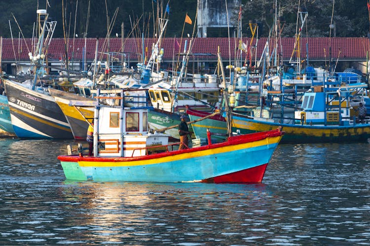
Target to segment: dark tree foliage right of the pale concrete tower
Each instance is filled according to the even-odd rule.
[[[243,19],[262,22],[262,36],[267,36],[274,23],[275,0],[242,0],[242,3]],[[369,14],[366,0],[277,0],[276,5],[278,16],[283,16],[286,21],[282,36],[295,36],[298,5],[308,12],[303,36],[333,37],[335,34],[337,37],[358,37],[368,34]],[[335,33],[330,28],[331,23],[335,25]],[[298,28],[300,25],[298,20]]]

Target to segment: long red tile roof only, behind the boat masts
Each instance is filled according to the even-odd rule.
[[[188,41],[189,38],[186,38]],[[267,38],[260,38],[258,41],[257,47],[257,58],[259,59]],[[145,46],[148,48],[148,54],[151,53],[151,46],[156,40],[153,38],[145,39]],[[181,40],[177,38],[178,43],[181,43],[180,50],[184,50],[185,38]],[[27,45],[26,45],[27,42]],[[164,60],[172,60],[173,54],[178,53],[178,50],[174,50],[174,38],[164,38],[161,47],[164,48]],[[249,45],[250,38],[243,38],[243,42]],[[255,44],[256,39],[253,42]],[[294,48],[294,38],[282,38],[281,46],[283,47],[283,58],[284,60],[289,60],[293,48]],[[352,37],[352,38],[325,38],[325,37],[314,37],[314,38],[301,38],[300,39],[300,56],[301,59],[304,59],[306,54],[306,42],[308,43],[308,54],[310,60],[325,60],[329,59],[329,53],[331,50],[331,57],[337,58],[339,55],[339,60],[354,60],[354,61],[365,61],[366,60],[366,51],[369,50],[369,39],[364,37]],[[236,43],[236,45],[235,45]],[[279,42],[280,43],[280,42]],[[13,51],[14,44],[14,51]],[[15,61],[14,52],[17,58],[17,61],[28,61],[30,52],[28,49],[32,47],[32,40],[30,38],[22,40],[18,45],[18,40],[12,40],[9,38],[3,39],[2,44],[2,60],[6,61]],[[188,43],[189,45],[189,43]],[[230,55],[231,59],[234,60],[234,49],[235,46],[238,46],[238,41],[235,42],[235,39],[230,39],[230,43],[227,38],[196,38],[193,41],[192,53],[212,53],[217,55],[218,46],[220,46],[220,51],[223,61],[229,60],[229,45],[230,45]],[[74,45],[73,39],[69,40],[68,45],[68,54],[72,60],[74,46],[74,60],[82,60],[82,48],[84,47],[83,38],[75,38]],[[107,42],[104,39],[99,39],[99,52],[102,52],[103,47],[105,52],[107,51]],[[19,48],[18,48],[19,47]],[[28,49],[27,49],[28,47]],[[95,47],[96,39],[87,38],[86,49],[87,49],[87,60],[92,61],[95,57]],[[142,53],[142,40],[138,38],[127,38],[124,41],[124,50],[126,54],[130,54],[131,61],[137,61],[139,54]],[[331,49],[330,49],[331,47]],[[109,42],[110,52],[121,52],[121,39],[120,38],[111,38]],[[65,43],[63,38],[53,38],[51,40],[50,46],[48,48],[48,61],[58,61],[60,58],[63,58],[65,55]],[[271,49],[271,48],[270,48]],[[280,47],[278,48],[280,50]],[[18,54],[18,50],[20,51]],[[340,54],[339,54],[340,52]],[[102,56],[99,54],[98,57]],[[245,54],[243,54],[245,57]],[[204,57],[203,57],[204,58]],[[206,57],[207,58],[207,57]],[[208,57],[210,60],[216,60],[216,57]],[[104,60],[104,59],[103,59]]]

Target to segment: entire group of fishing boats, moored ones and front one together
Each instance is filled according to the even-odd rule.
[[[58,83],[48,81],[44,37],[52,36],[54,29],[46,27],[55,23],[48,23],[46,11],[37,14],[46,17],[37,55],[30,54],[35,74],[28,80],[1,76],[0,128],[19,138],[85,141],[93,126],[92,155],[83,143],[58,157],[67,179],[261,182],[279,142],[370,137],[368,85],[361,75],[309,64],[301,70],[300,60],[291,61],[298,68],[293,70],[278,61],[268,65],[266,52],[255,64],[224,66],[219,53],[217,74],[193,74],[189,80],[190,42],[180,72],[170,76],[160,69],[165,19],[148,62],[137,69],[123,67],[113,75],[108,62],[105,69],[94,62],[94,73],[70,74],[67,81],[62,73]],[[184,116],[194,134],[178,150]]]

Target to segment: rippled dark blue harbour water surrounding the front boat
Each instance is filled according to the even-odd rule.
[[[280,145],[262,184],[66,181],[0,139],[0,245],[370,245],[370,144]]]

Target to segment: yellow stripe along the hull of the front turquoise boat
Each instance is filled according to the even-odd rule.
[[[184,160],[188,158],[197,158],[200,156],[206,156],[211,154],[219,154],[225,152],[232,152],[238,151],[242,149],[249,149],[269,144],[277,144],[279,143],[282,136],[278,137],[269,137],[259,141],[251,142],[251,143],[244,143],[244,144],[237,144],[231,146],[224,146],[216,149],[210,150],[203,150],[203,151],[194,151],[190,153],[184,154],[176,154],[171,156],[159,157],[155,159],[147,159],[147,160],[133,160],[133,161],[78,161],[78,164],[82,167],[117,167],[117,166],[138,166],[138,165],[151,165],[157,163],[165,163],[170,161],[177,161],[177,160]],[[98,158],[97,158],[98,159]]]

